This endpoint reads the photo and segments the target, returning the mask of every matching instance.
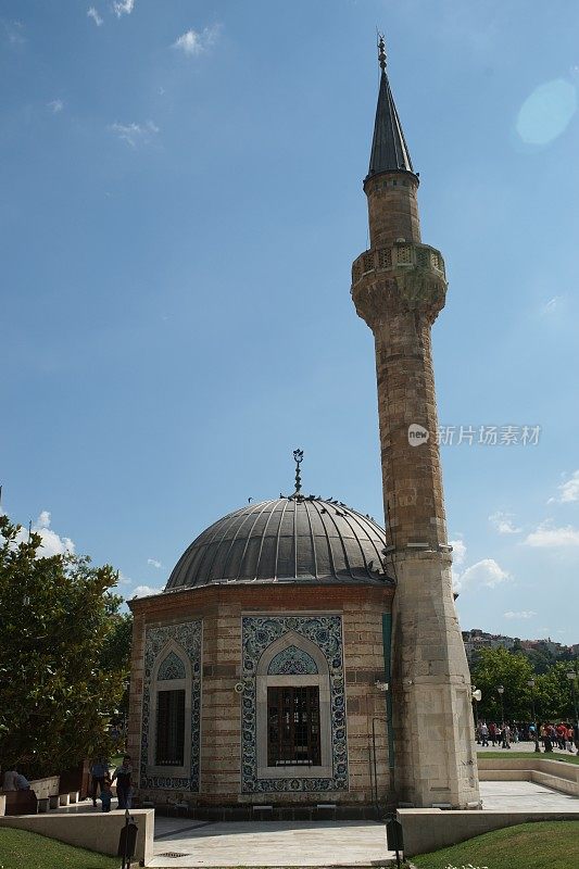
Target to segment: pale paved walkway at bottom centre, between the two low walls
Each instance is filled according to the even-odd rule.
[[[204,823],[159,817],[154,855],[151,867],[387,866],[394,857],[383,824],[373,821]]]

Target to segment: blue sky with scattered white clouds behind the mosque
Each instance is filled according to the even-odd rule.
[[[350,298],[376,27],[450,281],[461,624],[577,643],[574,0],[2,0],[3,508],[47,554],[112,564],[126,597],[287,492],[298,446],[305,491],[382,521]]]

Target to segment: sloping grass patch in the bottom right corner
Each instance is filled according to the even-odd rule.
[[[577,869],[579,821],[520,823],[478,835],[433,854],[420,854],[412,862],[420,869],[446,866],[488,866],[489,869]]]

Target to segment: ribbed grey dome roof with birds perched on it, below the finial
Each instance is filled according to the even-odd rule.
[[[280,496],[219,519],[177,562],[165,591],[215,583],[390,582],[386,534],[339,501]]]

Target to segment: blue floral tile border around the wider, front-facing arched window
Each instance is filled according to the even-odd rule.
[[[324,654],[330,678],[331,760],[333,776],[327,779],[257,778],[256,670],[265,650],[285,633],[307,638]],[[340,616],[244,616],[242,618],[243,705],[241,726],[241,791],[313,792],[348,790],[345,691]]]

